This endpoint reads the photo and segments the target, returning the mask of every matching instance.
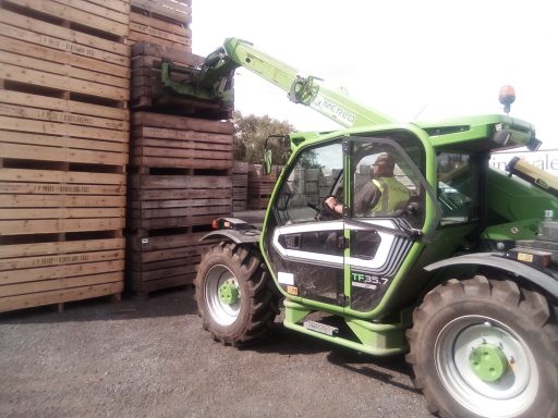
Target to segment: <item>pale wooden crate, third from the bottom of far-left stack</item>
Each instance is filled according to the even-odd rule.
[[[129,111],[0,90],[0,158],[128,163]]]

